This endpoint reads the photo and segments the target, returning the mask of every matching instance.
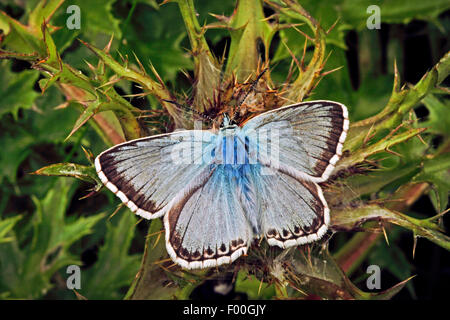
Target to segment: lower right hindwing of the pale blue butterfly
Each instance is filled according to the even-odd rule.
[[[319,240],[330,221],[322,190],[315,182],[298,180],[289,173],[254,167],[260,233],[270,245],[287,248]]]

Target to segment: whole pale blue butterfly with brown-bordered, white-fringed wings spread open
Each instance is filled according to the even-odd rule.
[[[167,251],[187,269],[235,261],[255,239],[288,248],[319,240],[330,210],[318,183],[342,155],[349,119],[309,101],[219,129],[128,141],[95,159],[97,174],[135,214],[163,217]]]

